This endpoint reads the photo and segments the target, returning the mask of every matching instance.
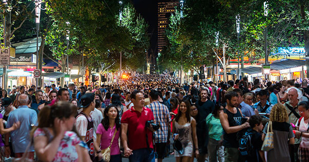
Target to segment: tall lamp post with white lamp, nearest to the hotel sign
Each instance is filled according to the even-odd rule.
[[[39,59],[40,59],[40,63],[43,62],[43,58],[38,56],[38,32],[39,32],[39,20],[40,20],[40,12],[41,12],[41,3],[42,0],[35,0],[34,4],[35,4],[35,24],[36,24],[36,69],[38,69],[39,67]],[[42,66],[41,66],[42,67]],[[42,68],[40,69],[40,78],[36,78],[36,87],[41,86],[42,83]]]

